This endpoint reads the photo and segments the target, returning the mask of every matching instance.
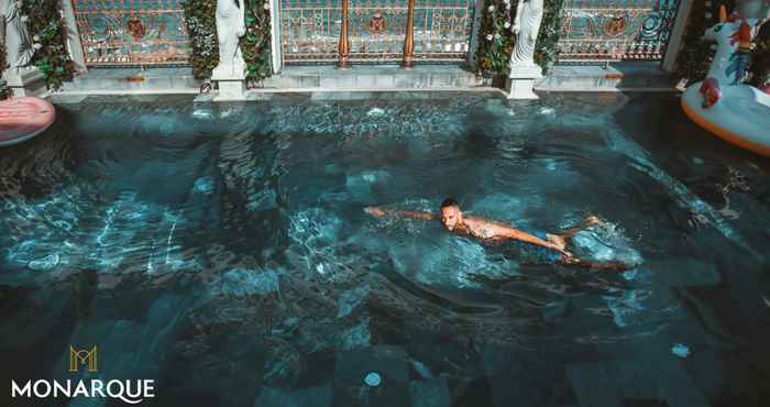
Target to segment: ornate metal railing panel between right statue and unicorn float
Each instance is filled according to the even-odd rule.
[[[680,0],[565,0],[559,62],[660,61]]]

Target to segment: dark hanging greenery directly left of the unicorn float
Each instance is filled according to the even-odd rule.
[[[703,33],[719,22],[721,4],[725,4],[727,10],[733,10],[735,1],[712,1],[711,7],[706,7],[704,1],[693,1],[674,68],[674,73],[680,78],[695,82],[706,77],[715,51],[712,50],[712,42],[703,40]],[[706,16],[706,13],[711,14]]]

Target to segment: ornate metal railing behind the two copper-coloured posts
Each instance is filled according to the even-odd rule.
[[[406,36],[406,0],[349,0],[350,61],[398,62]],[[469,50],[473,0],[418,0],[415,58],[462,61]],[[338,58],[341,0],[283,0],[284,62],[333,63]]]

